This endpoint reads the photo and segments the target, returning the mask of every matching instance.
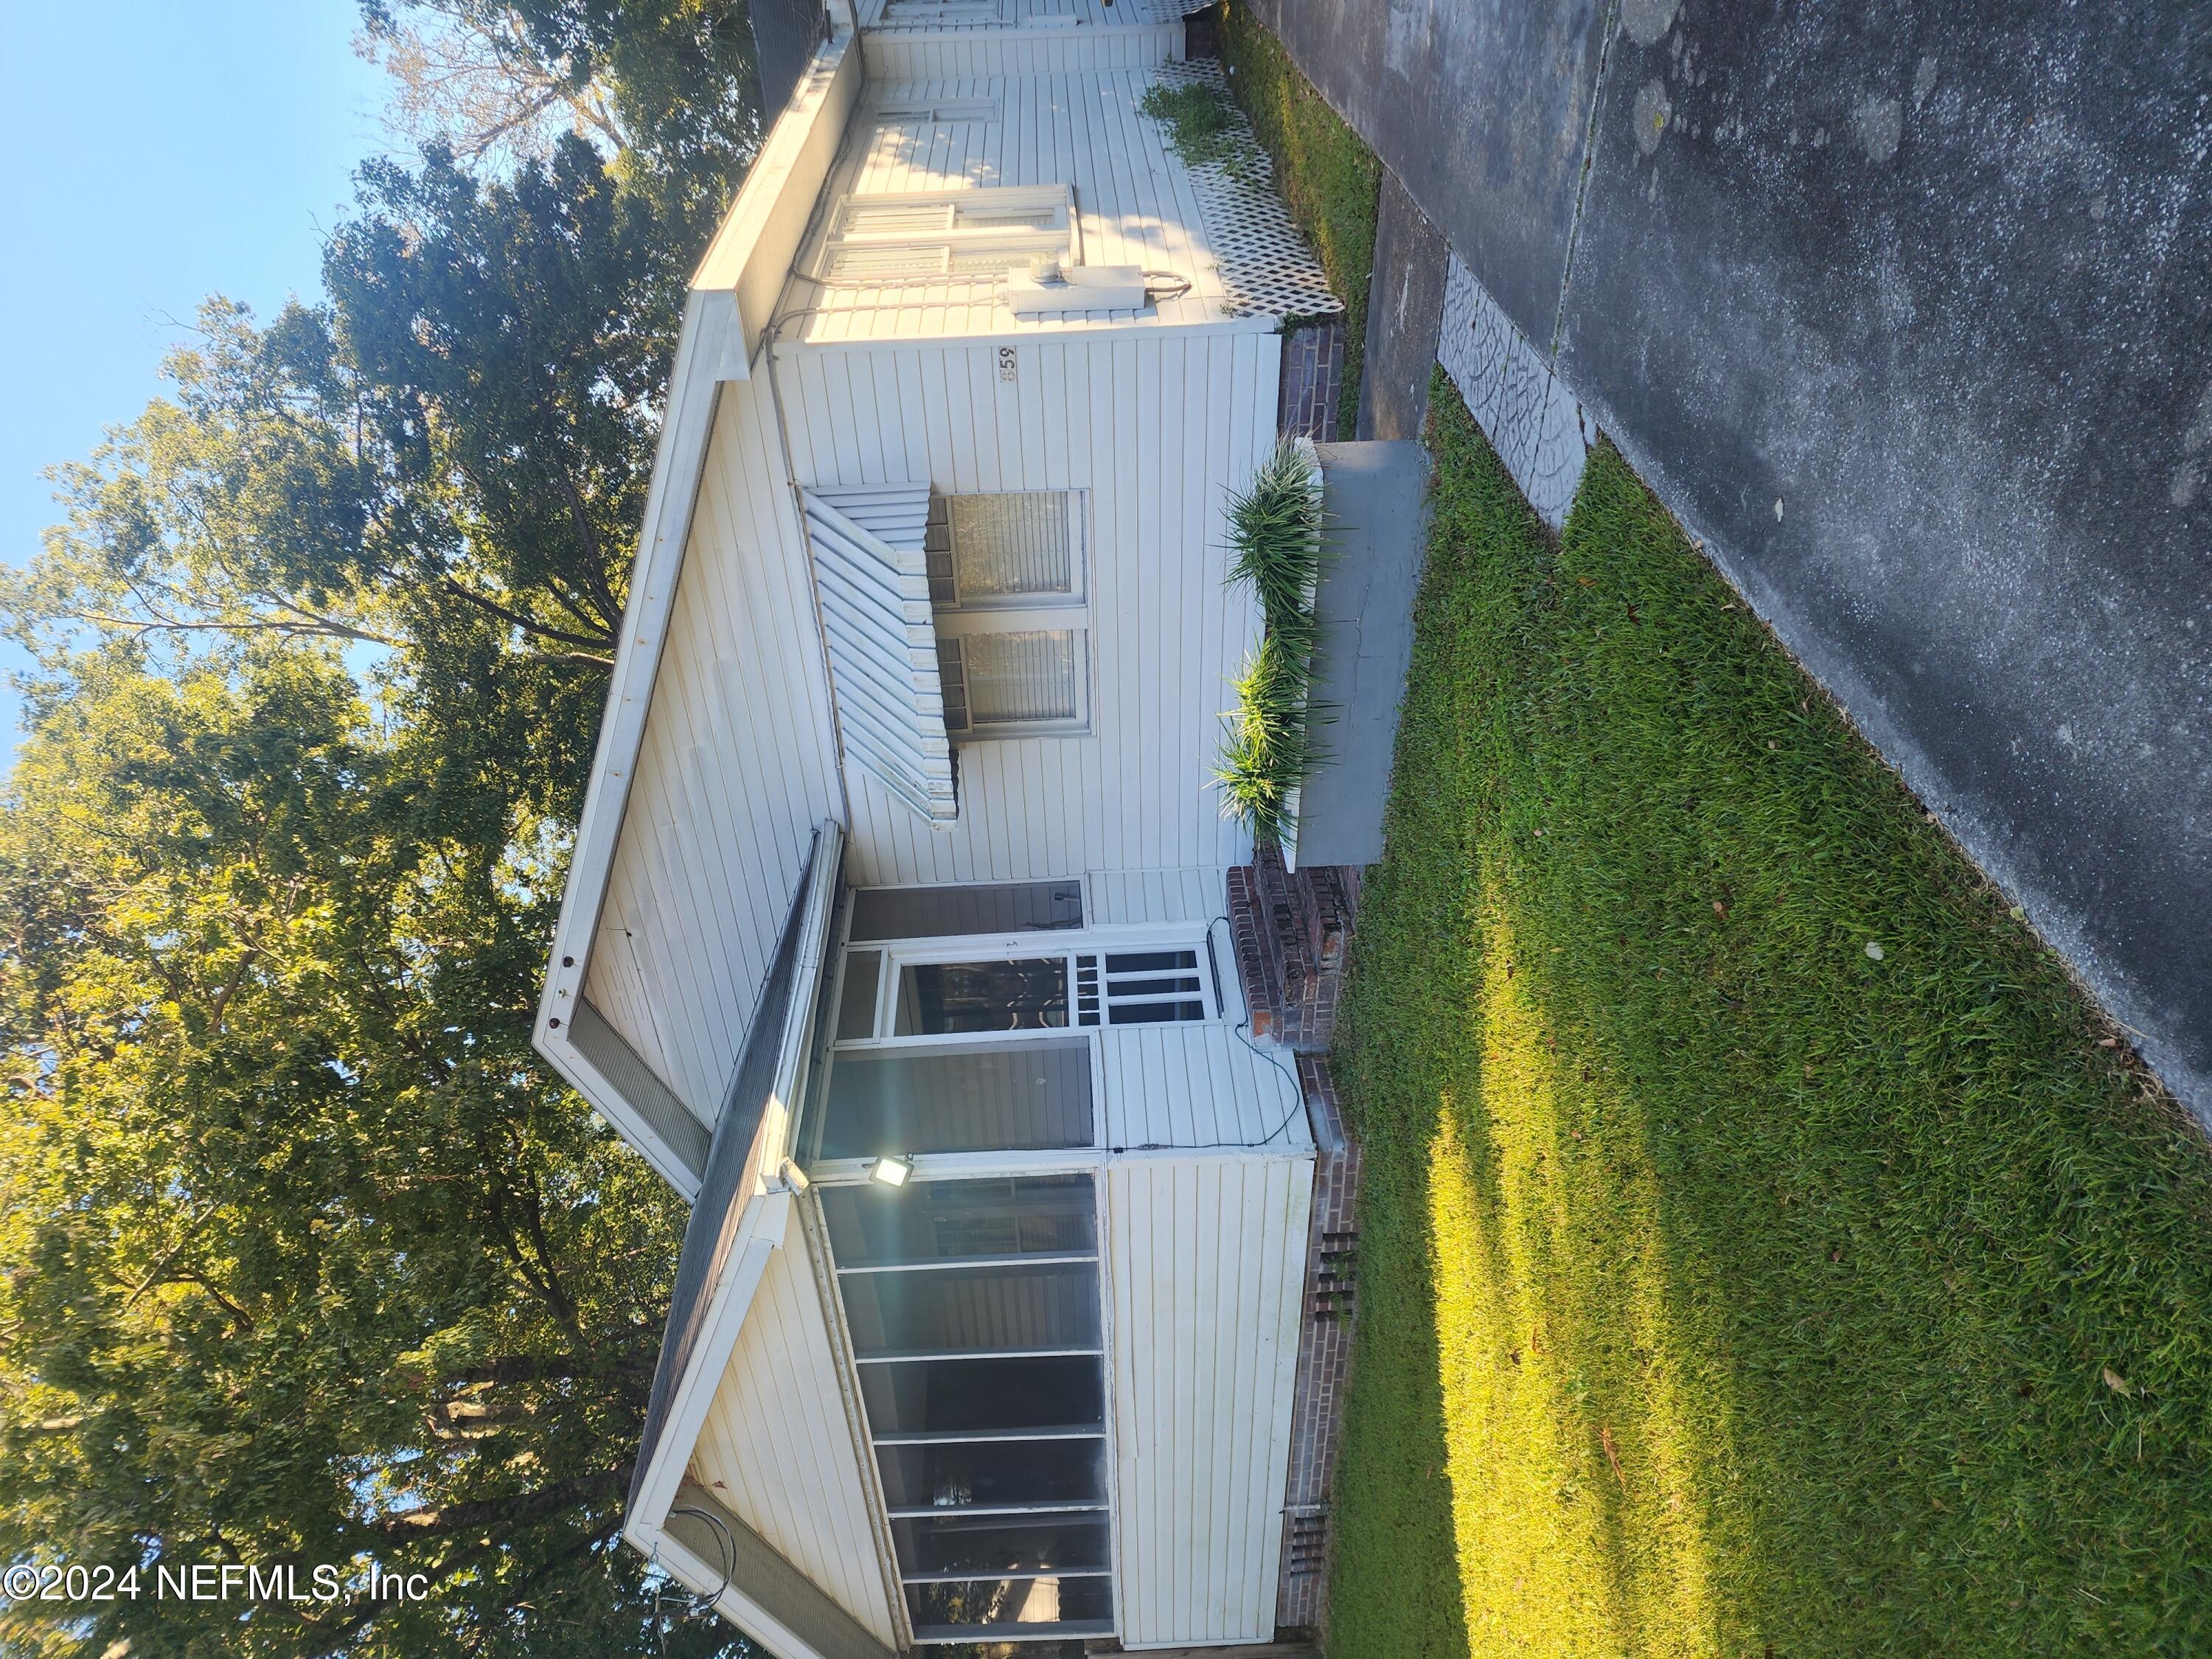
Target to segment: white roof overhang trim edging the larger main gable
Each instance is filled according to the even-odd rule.
[[[568,887],[553,929],[551,967],[538,1000],[538,1051],[686,1199],[699,1192],[703,1179],[703,1128],[611,1029],[602,1033],[595,1026],[584,1002],[584,980],[622,838],[630,774],[646,737],[661,639],[684,573],[684,549],[714,431],[717,392],[726,380],[752,376],[752,356],[768,332],[858,97],[860,51],[852,33],[841,33],[801,73],[737,204],[692,274],[613,684],[577,818]]]

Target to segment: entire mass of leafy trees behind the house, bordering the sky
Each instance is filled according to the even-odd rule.
[[[681,1206],[529,1024],[750,40],[699,0],[436,13],[608,126],[365,168],[327,303],[212,301],[0,584],[40,661],[0,794],[0,1562],[431,1593],[13,1604],[7,1650],[741,1650],[664,1630],[615,1546]]]

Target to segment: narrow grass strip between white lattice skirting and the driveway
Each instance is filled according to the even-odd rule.
[[[1329,288],[1345,301],[1345,387],[1336,405],[1336,436],[1352,438],[1367,356],[1367,279],[1376,263],[1383,164],[1358,133],[1336,119],[1245,0],[1221,7],[1221,64],[1230,71],[1230,93],[1274,161],[1290,217],[1314,243]]]

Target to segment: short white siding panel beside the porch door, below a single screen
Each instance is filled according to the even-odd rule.
[[[1290,1051],[1221,1022],[1102,1031],[1099,1097],[1108,1146],[1314,1150]]]

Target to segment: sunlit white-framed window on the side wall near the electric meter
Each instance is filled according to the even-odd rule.
[[[823,239],[827,281],[1004,276],[1037,254],[1082,263],[1075,197],[1064,184],[845,197]]]

